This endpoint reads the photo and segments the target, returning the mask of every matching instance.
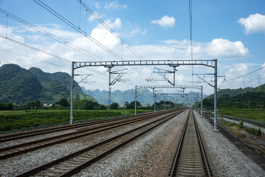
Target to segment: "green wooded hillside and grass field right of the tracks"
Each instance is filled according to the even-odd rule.
[[[217,95],[217,109],[222,115],[265,121],[265,84],[257,88],[221,89]],[[203,100],[203,107],[213,109],[213,95]]]

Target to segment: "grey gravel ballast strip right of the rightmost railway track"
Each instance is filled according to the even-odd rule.
[[[195,112],[194,112],[195,113]],[[204,137],[207,148],[221,177],[265,177],[265,172],[257,164],[246,157],[221,133],[213,131],[214,127],[195,113],[200,134]]]

